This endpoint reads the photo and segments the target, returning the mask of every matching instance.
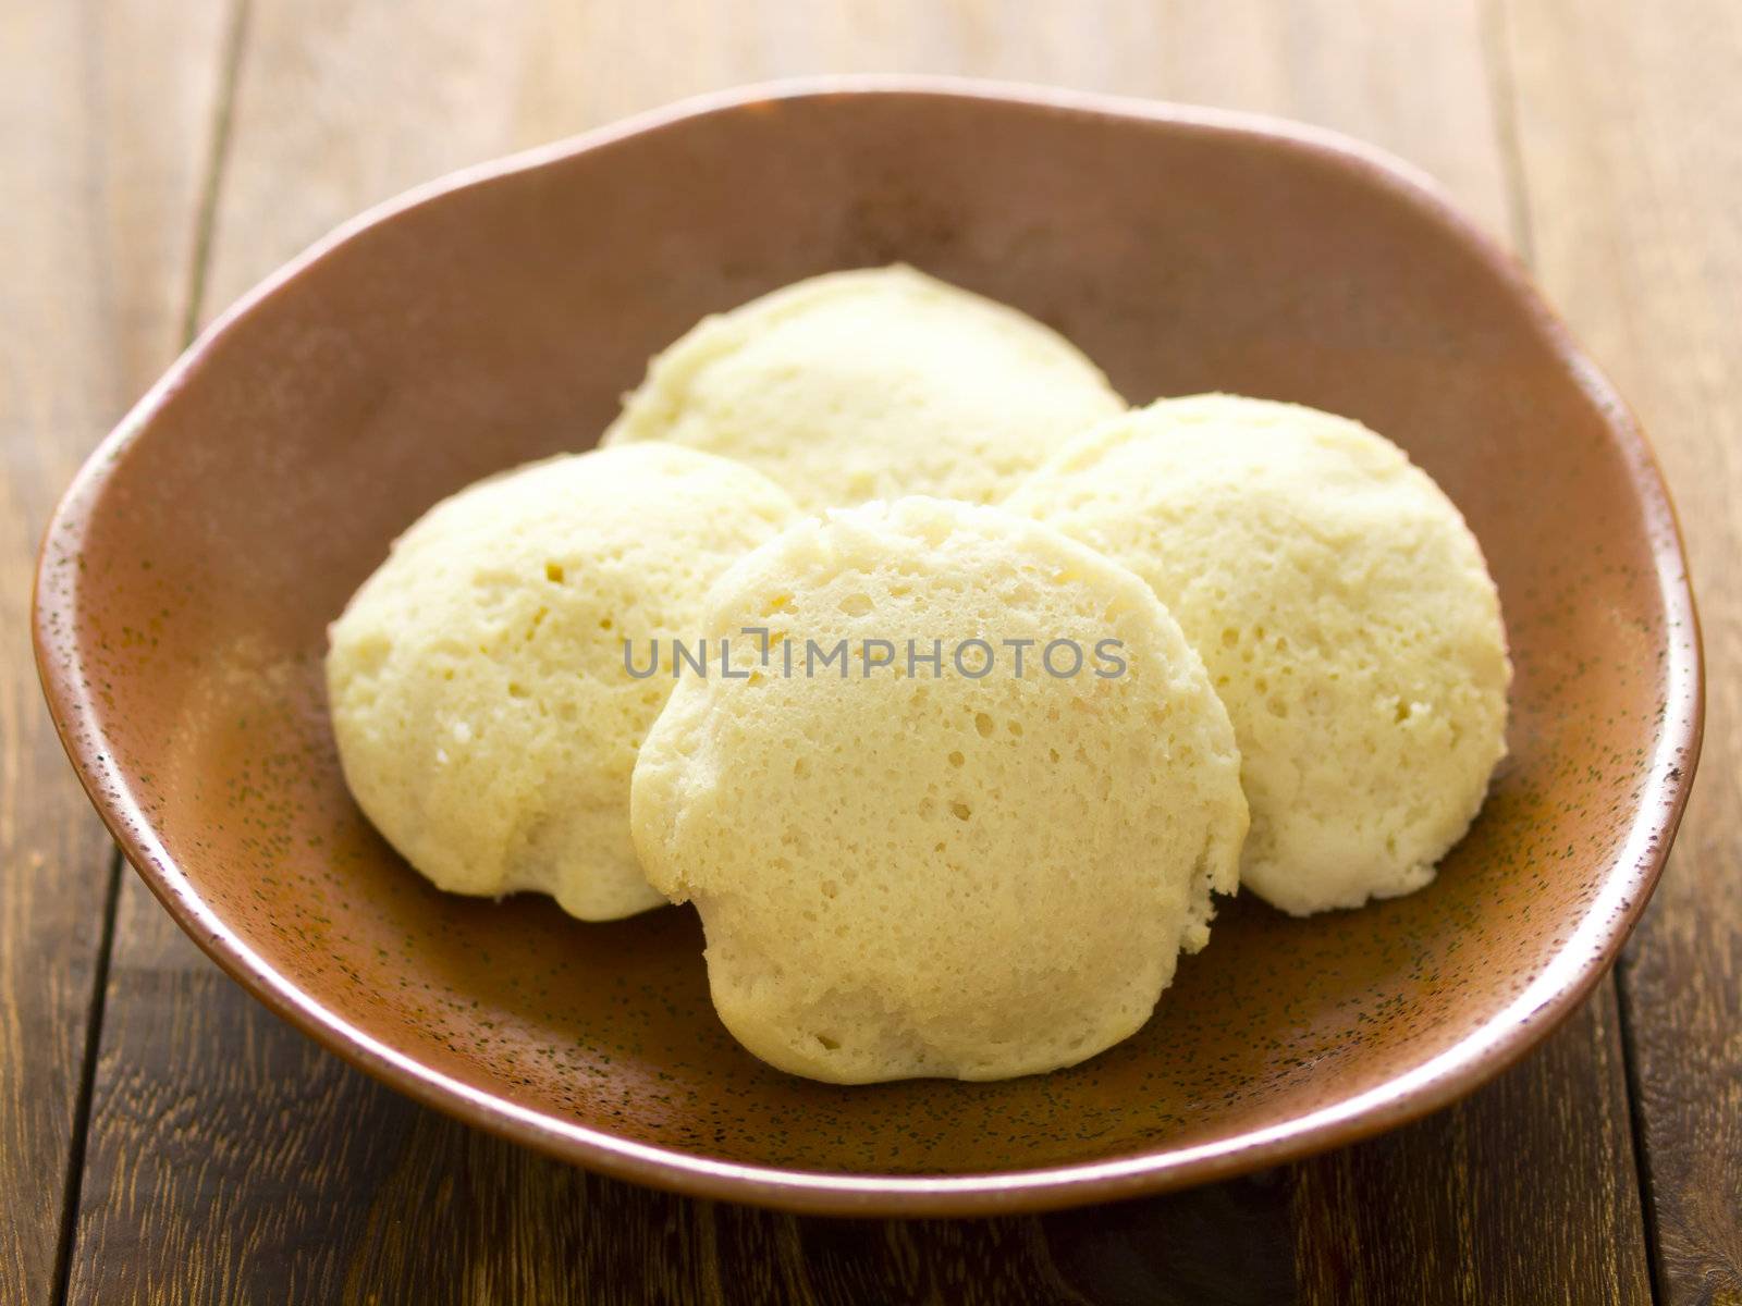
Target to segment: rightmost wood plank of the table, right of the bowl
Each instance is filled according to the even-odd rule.
[[[1636,406],[1705,632],[1700,782],[1622,994],[1665,1303],[1742,1303],[1742,12],[1514,0],[1538,273]]]

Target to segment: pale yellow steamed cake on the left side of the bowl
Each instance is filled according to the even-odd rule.
[[[664,902],[636,862],[629,777],[672,683],[631,677],[624,639],[688,634],[707,585],[793,512],[758,472],[667,444],[437,503],[329,630],[359,806],[444,890],[538,890],[584,919]]]

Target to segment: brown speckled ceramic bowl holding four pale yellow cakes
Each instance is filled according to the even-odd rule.
[[[1512,756],[1430,888],[1308,921],[1240,899],[1136,1038],[1007,1083],[768,1069],[714,1019],[690,909],[437,893],[352,806],[322,703],[327,620],[423,508],[592,444],[702,313],[890,259],[1057,326],[1134,401],[1237,390],[1397,439],[1469,515],[1517,658]],[[1286,124],[913,80],[639,118],[321,242],[84,468],[37,651],[127,857],[275,1012],[557,1156],[815,1212],[1125,1196],[1449,1102],[1615,958],[1700,735],[1634,420],[1418,178]]]

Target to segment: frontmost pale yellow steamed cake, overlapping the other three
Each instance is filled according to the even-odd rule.
[[[766,629],[768,660],[740,636],[749,679],[679,679],[636,764],[634,836],[648,879],[700,911],[714,1005],[763,1060],[840,1083],[1068,1066],[1134,1033],[1204,946],[1211,890],[1237,883],[1239,754],[1124,568],[908,498],[751,552],[704,625]],[[979,677],[955,663],[976,637],[996,658]],[[807,676],[840,639],[848,674]],[[866,639],[895,667],[868,676]],[[944,674],[909,665],[909,639]],[[1035,641],[1023,676],[1007,639]],[[1078,674],[1064,644],[1047,670],[1052,641],[1084,650]]]

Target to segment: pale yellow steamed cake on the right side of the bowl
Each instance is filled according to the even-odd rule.
[[[1141,575],[1240,740],[1242,885],[1284,911],[1427,885],[1505,756],[1500,601],[1451,500],[1310,407],[1197,395],[1080,437],[1009,502]]]

